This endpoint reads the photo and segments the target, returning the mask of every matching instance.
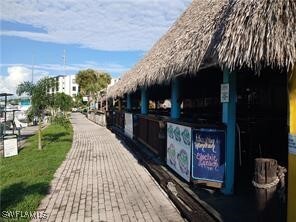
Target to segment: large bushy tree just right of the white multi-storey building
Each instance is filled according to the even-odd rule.
[[[110,82],[110,74],[93,69],[81,70],[76,77],[80,94],[82,96],[91,96],[95,100],[99,91],[105,89]]]

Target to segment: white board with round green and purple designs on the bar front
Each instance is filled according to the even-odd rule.
[[[167,165],[190,181],[191,128],[167,123]]]

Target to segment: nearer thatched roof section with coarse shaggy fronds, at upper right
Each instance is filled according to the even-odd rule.
[[[220,65],[291,69],[296,62],[296,1],[234,2],[218,45]]]

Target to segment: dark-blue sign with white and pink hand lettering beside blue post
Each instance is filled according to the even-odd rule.
[[[225,132],[217,129],[192,131],[192,178],[223,183]]]

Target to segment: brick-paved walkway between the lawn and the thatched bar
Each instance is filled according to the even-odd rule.
[[[183,221],[114,134],[78,113],[72,123],[72,148],[38,208],[48,221]]]

